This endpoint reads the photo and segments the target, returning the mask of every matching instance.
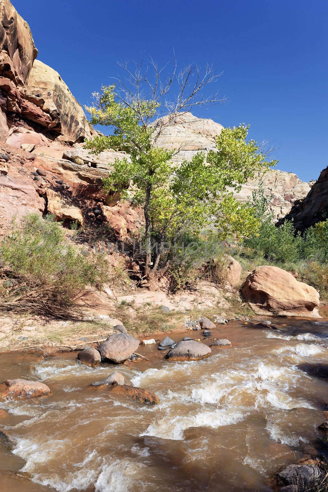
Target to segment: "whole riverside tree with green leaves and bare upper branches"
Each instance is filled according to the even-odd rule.
[[[265,171],[275,161],[267,162],[257,142],[246,141],[248,126],[225,128],[216,139],[216,151],[196,154],[191,161],[180,165],[172,157],[181,149],[168,151],[156,146],[164,128],[173,124],[178,114],[193,107],[208,106],[221,100],[217,92],[205,96],[207,86],[218,75],[207,67],[204,76],[197,66],[187,66],[169,77],[151,62],[152,77],[142,63],[128,73],[127,80],[102,87],[94,93],[95,102],[86,109],[92,124],[109,126],[113,134],[97,136],[87,147],[99,153],[105,149],[124,150],[129,157],[116,159],[114,171],[104,180],[106,190],[119,190],[126,197],[127,184],[132,182],[133,204],[142,206],[145,214],[146,258],[145,276],[155,273],[162,246],[174,241],[183,227],[196,231],[215,223],[221,236],[232,232],[244,234],[256,227],[249,207],[238,204],[234,190],[252,178],[256,171]],[[177,90],[175,90],[177,86]],[[175,93],[169,102],[169,93]],[[158,244],[153,261],[151,239]],[[151,266],[152,265],[152,266]]]

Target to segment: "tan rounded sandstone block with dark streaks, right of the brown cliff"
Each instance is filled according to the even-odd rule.
[[[44,99],[43,111],[50,114],[54,122],[54,131],[73,141],[91,138],[89,123],[82,106],[56,70],[35,60],[27,88],[30,94]]]

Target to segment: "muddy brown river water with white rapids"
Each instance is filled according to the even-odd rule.
[[[2,354],[1,382],[42,381],[52,396],[0,403],[8,412],[0,430],[15,444],[0,446],[0,470],[33,476],[0,474],[0,490],[271,491],[270,476],[319,436],[328,401],[328,323],[277,323],[276,331],[219,326],[213,336],[233,348],[198,362],[168,362],[156,346],[160,357],[140,346],[149,361],[119,371],[156,393],[154,406],[88,388],[118,366],[91,369],[76,353]]]

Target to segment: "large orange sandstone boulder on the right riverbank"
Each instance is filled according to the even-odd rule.
[[[259,314],[319,317],[319,293],[278,267],[258,267],[241,287],[242,295]]]

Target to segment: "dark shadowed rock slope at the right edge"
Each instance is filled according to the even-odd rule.
[[[290,212],[281,220],[293,220],[298,231],[304,231],[317,222],[328,219],[328,167],[313,184],[304,200],[296,201]]]

